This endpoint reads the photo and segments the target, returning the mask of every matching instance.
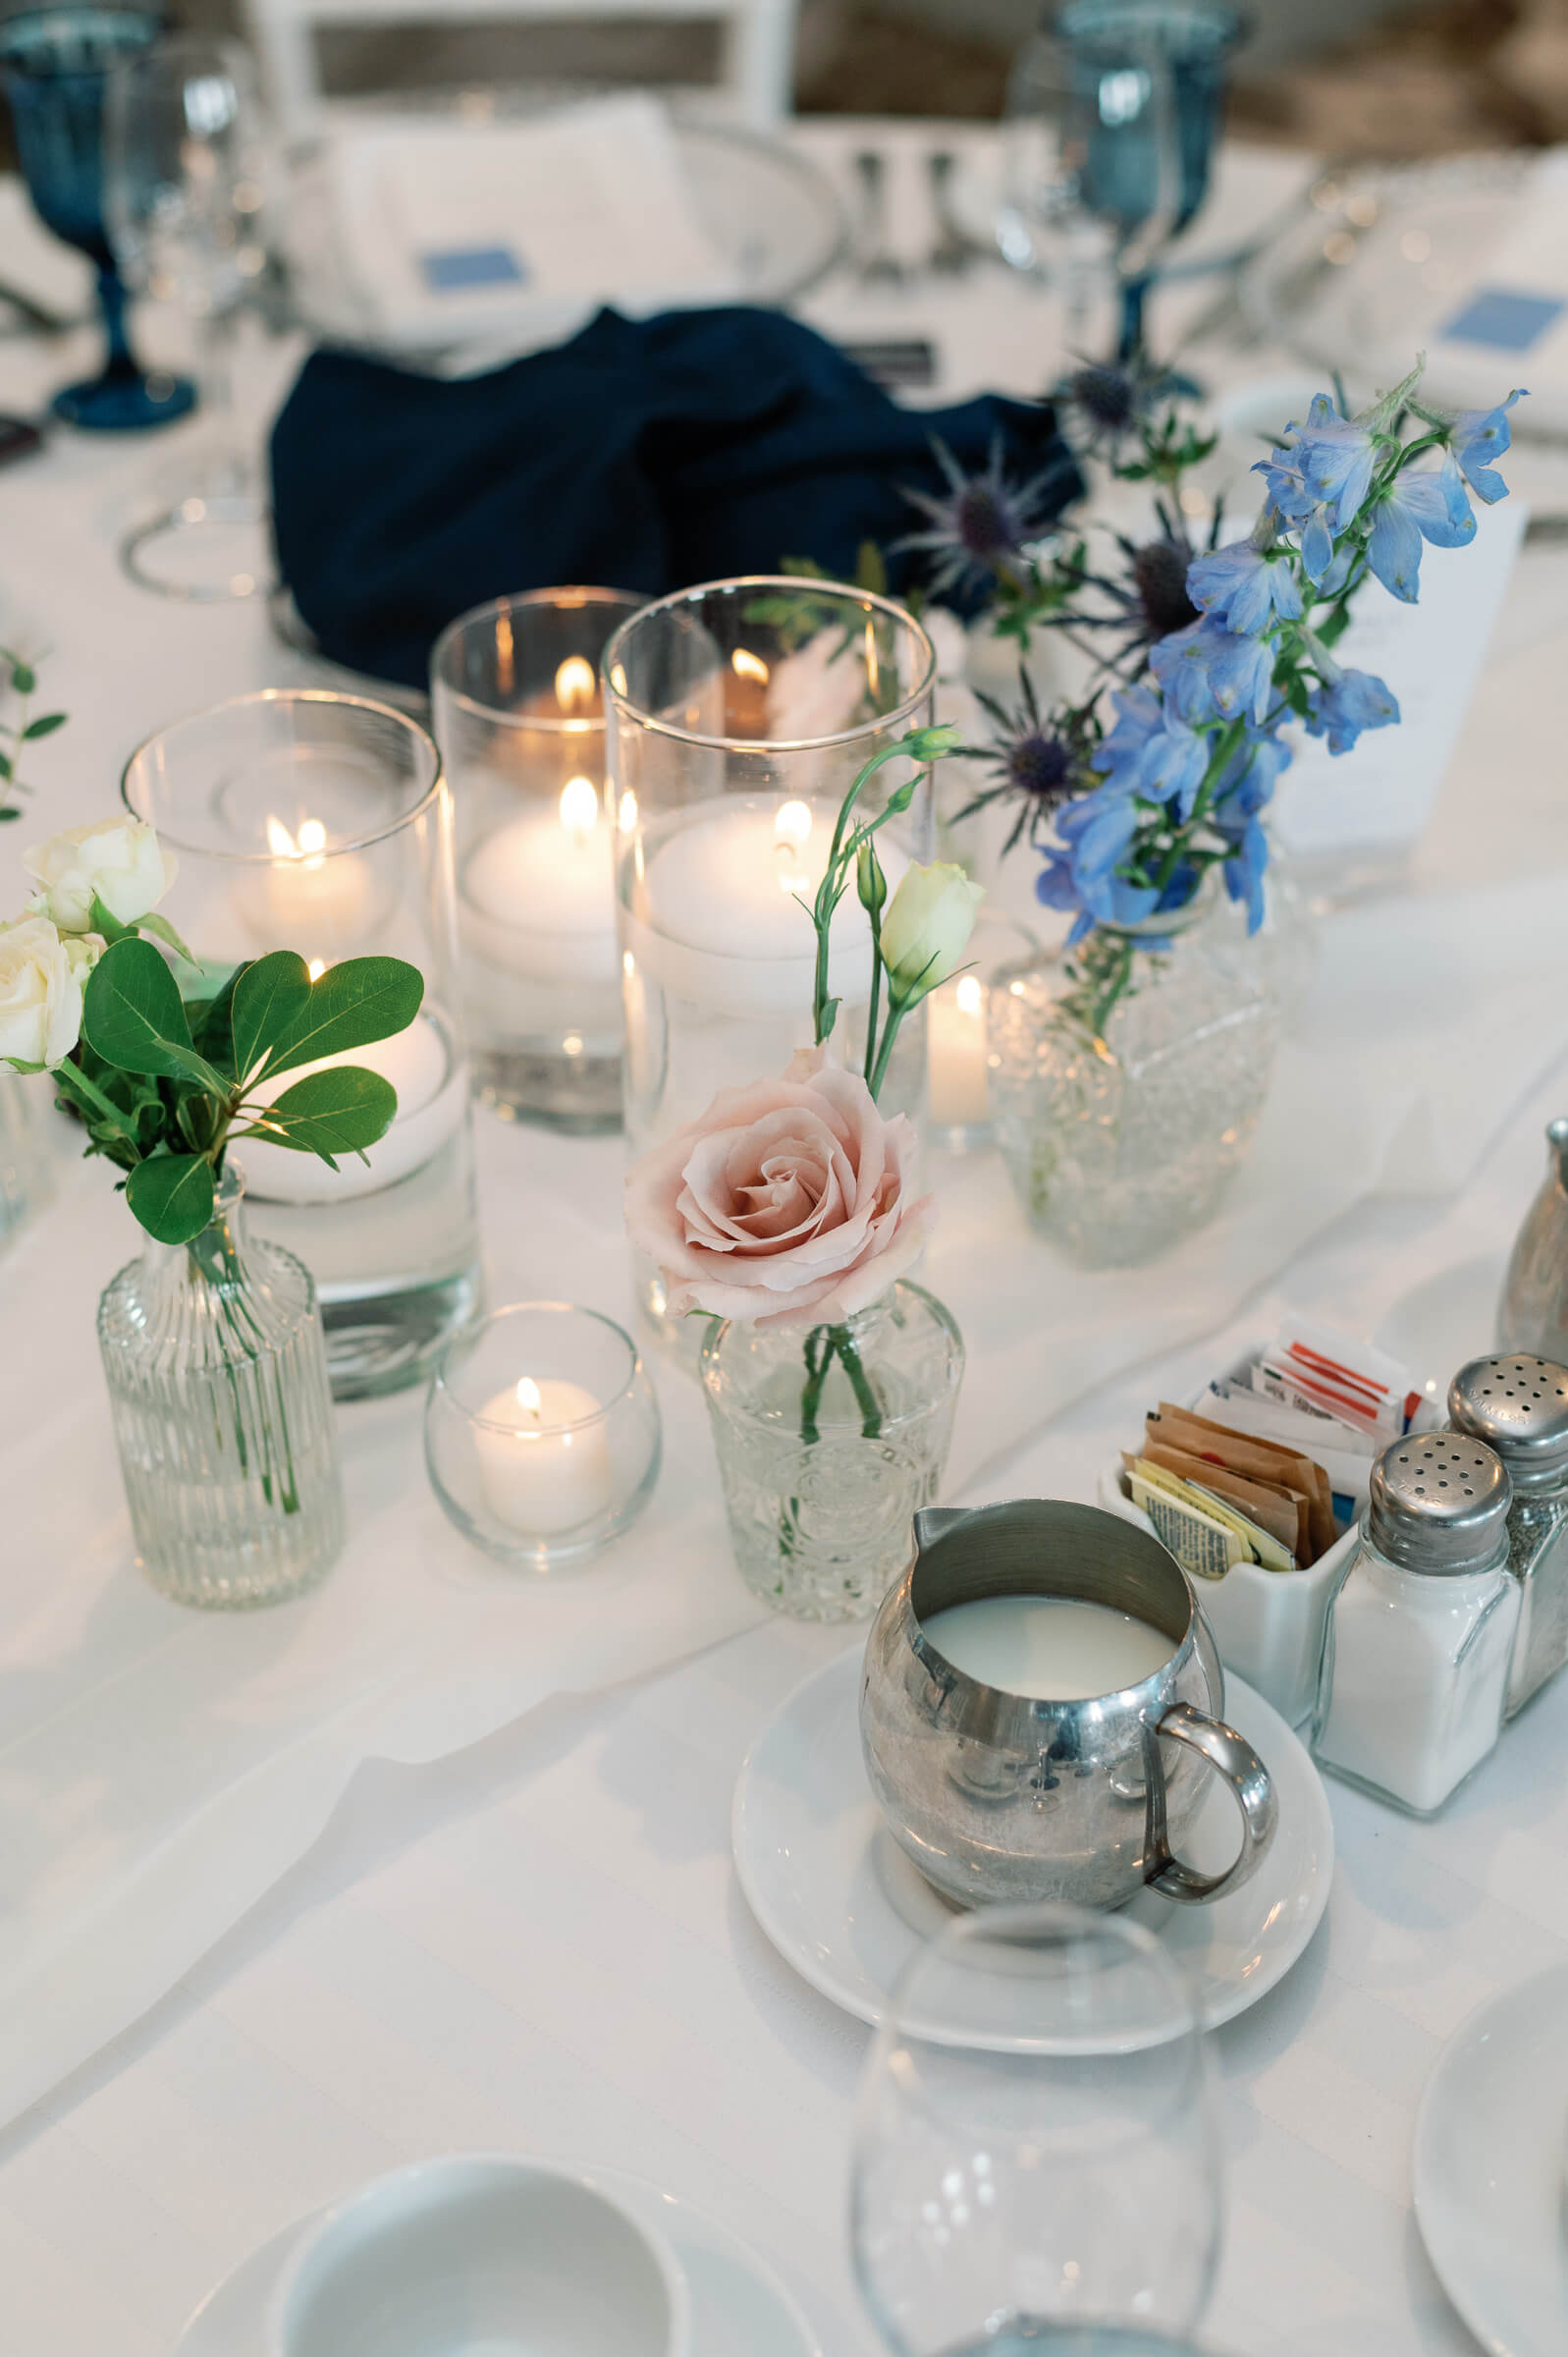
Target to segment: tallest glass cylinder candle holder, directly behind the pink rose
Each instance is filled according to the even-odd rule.
[[[707,582],[644,606],[604,651],[615,811],[615,915],[632,1153],[696,1120],[717,1089],[783,1072],[811,1047],[809,905],[856,773],[931,724],[936,655],[903,606],[799,575]],[[872,818],[910,778],[879,768]],[[889,891],[931,858],[931,780],[877,834]],[[802,900],[806,903],[802,907]],[[830,933],[835,1051],[865,1054],[872,948],[854,882]],[[920,1113],[924,1021],[898,1035],[882,1089]],[[700,1320],[665,1320],[655,1270],[639,1303],[696,1353]]]

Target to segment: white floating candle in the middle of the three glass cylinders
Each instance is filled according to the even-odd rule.
[[[568,778],[554,808],[512,818],[474,844],[462,900],[469,945],[512,973],[613,981],[611,830],[594,780]]]

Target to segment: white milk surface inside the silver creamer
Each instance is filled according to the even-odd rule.
[[[1035,1702],[1120,1695],[1177,1650],[1165,1629],[1078,1596],[976,1596],[920,1629],[967,1678]]]

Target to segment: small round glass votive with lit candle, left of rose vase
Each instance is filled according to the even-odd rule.
[[[514,1301],[455,1334],[424,1402],[441,1511],[498,1563],[552,1572],[653,1494],[658,1400],[637,1343],[568,1301]]]

